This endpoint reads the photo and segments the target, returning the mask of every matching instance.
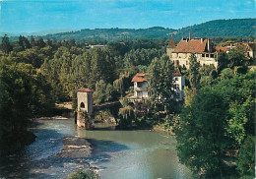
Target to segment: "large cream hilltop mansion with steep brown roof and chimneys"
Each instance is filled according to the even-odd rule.
[[[216,50],[210,38],[182,38],[175,46],[173,37],[170,38],[166,49],[167,55],[174,65],[189,68],[189,57],[195,54],[200,65],[218,66]]]

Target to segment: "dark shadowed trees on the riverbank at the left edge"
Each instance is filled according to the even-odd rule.
[[[48,93],[50,87],[32,65],[6,57],[0,60],[0,141],[19,139],[28,118],[50,112],[54,102]]]

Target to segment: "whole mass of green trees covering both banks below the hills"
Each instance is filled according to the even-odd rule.
[[[122,98],[119,128],[158,125],[174,132],[180,162],[195,177],[253,178],[256,72],[249,70],[244,49],[220,54],[217,69],[200,67],[192,55],[191,68],[181,69],[187,84],[181,108],[171,99],[174,67],[164,55],[166,38],[124,39],[88,49],[95,42],[2,38],[2,144],[21,142],[29,118],[48,113],[55,102],[75,101],[77,89],[90,88],[96,104]],[[131,105],[126,96],[138,72],[147,72],[151,96]]]

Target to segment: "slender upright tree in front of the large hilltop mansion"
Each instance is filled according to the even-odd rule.
[[[195,54],[191,54],[189,57],[189,70],[188,70],[188,79],[191,89],[196,93],[197,89],[200,87],[200,63],[197,62],[197,57]]]

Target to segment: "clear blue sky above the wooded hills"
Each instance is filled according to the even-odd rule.
[[[0,32],[185,28],[255,18],[256,0],[0,0]]]

